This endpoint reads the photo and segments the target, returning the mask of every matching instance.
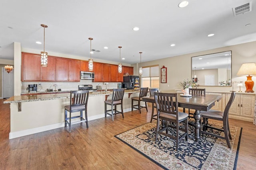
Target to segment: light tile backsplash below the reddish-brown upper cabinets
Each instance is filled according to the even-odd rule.
[[[41,83],[42,89],[38,85],[39,83]],[[37,90],[44,92],[47,88],[52,88],[53,90],[55,90],[55,87],[53,86],[54,84],[57,85],[56,90],[60,88],[62,91],[65,91],[65,90],[78,90],[79,84],[92,84],[92,88],[94,89],[96,89],[97,85],[102,86],[102,89],[106,89],[106,86],[107,86],[107,89],[113,89],[113,88],[117,88],[118,83],[119,82],[109,82],[107,85],[103,85],[103,82],[92,82],[92,80],[80,80],[80,82],[22,82],[22,92],[28,92],[27,90],[28,84],[37,84]]]

